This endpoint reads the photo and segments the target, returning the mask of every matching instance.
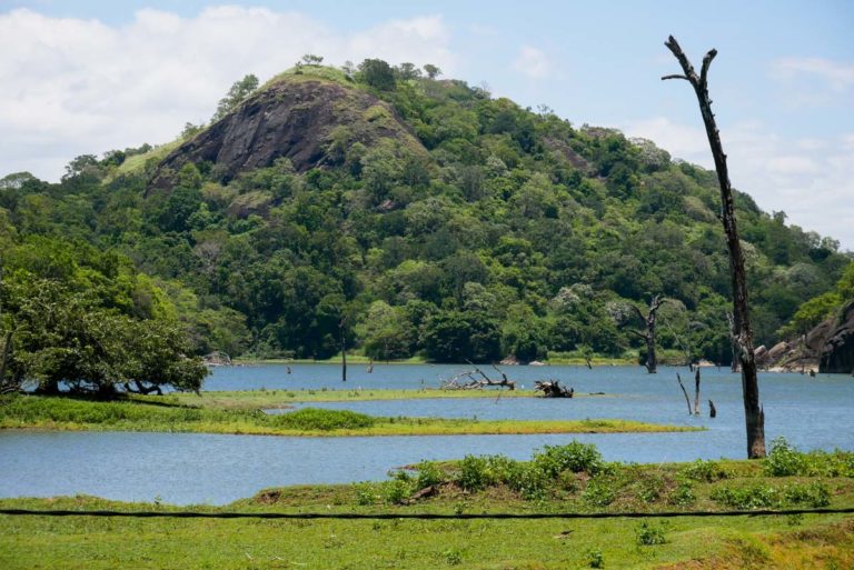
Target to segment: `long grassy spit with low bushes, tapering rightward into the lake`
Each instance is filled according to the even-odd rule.
[[[522,421],[383,418],[346,410],[306,408],[267,414],[260,410],[190,407],[163,399],[92,401],[13,396],[0,401],[0,429],[166,431],[251,436],[461,436],[515,433],[623,433],[689,431],[693,428],[626,420]]]

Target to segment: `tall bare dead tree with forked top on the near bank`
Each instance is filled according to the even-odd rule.
[[[742,392],[744,396],[744,417],[747,431],[747,457],[751,459],[765,457],[765,412],[759,406],[759,383],[756,378],[756,356],[753,350],[753,330],[751,329],[747,303],[747,280],[744,270],[744,251],[738,241],[738,229],[735,223],[735,204],[733,189],[729,184],[729,173],[726,167],[726,154],[721,143],[721,133],[712,112],[712,100],[708,98],[708,68],[717,56],[717,50],[709,50],[703,58],[699,76],[682,51],[676,39],[671,36],[664,43],[673,52],[682,67],[683,74],[665,76],[662,79],[684,79],[697,96],[699,112],[706,128],[708,144],[715,159],[715,170],[721,186],[721,221],[726,233],[726,246],[729,249],[729,269],[733,282],[733,338],[738,348],[738,362],[742,366]]]

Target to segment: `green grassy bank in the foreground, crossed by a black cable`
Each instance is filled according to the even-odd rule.
[[[546,448],[527,462],[469,457],[418,468],[383,483],[268,489],[224,508],[188,510],[394,516],[691,513],[854,506],[850,453],[805,456],[783,449],[765,462],[625,466],[603,462],[595,449],[573,444]],[[528,481],[542,481],[512,483],[502,479],[506,470],[515,470],[516,477]],[[537,486],[540,492],[526,492]],[[419,487],[433,491],[417,494]],[[90,497],[0,500],[0,507],[173,509]],[[219,520],[0,516],[0,567],[848,569],[854,567],[854,517]]]

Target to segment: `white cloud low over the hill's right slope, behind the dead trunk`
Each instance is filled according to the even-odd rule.
[[[681,158],[714,168],[705,131],[653,118],[624,126]],[[831,236],[854,250],[854,133],[790,140],[759,122],[722,127],[735,188],[766,211],[785,211],[791,223]]]

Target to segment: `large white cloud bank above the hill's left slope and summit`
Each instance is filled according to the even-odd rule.
[[[237,6],[192,18],[145,9],[121,27],[0,13],[0,177],[29,170],[56,180],[78,154],[167,142],[185,122],[210,118],[234,81],[264,81],[304,53],[453,73],[449,41],[437,16],[341,33],[299,12]]]

